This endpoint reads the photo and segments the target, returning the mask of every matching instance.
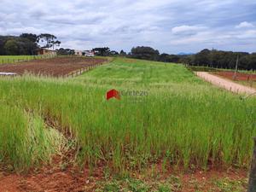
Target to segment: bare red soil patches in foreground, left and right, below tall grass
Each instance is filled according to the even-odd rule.
[[[0,191],[90,192],[103,189],[113,179],[111,177],[106,179],[103,166],[98,166],[90,172],[89,168],[80,170],[78,167],[71,165],[63,168],[62,163],[61,158],[57,157],[53,166],[43,166],[27,174],[0,172]],[[241,191],[245,191],[247,188],[247,171],[242,169],[230,169],[229,171],[222,169],[196,170],[193,172],[172,171],[159,174],[155,177],[141,178],[148,185],[155,182],[172,185],[174,191],[223,191],[220,184],[232,188],[234,183],[239,184]],[[140,179],[140,177],[135,178]],[[172,180],[175,178],[172,183],[170,183],[170,178]]]

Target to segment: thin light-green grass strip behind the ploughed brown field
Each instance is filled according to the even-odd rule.
[[[48,58],[48,55],[0,55],[0,64]]]

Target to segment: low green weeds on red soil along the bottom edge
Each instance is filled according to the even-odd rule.
[[[182,181],[181,177],[171,175],[164,180],[154,178],[154,180],[144,181],[143,179],[134,179],[131,177],[106,179],[96,183],[95,191],[98,192],[172,192],[172,191],[223,191],[223,192],[241,192],[245,191],[247,179],[212,178],[199,181],[196,178],[190,178],[188,183]]]

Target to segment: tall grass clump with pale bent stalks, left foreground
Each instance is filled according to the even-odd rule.
[[[0,163],[9,169],[27,170],[60,153],[65,139],[58,131],[46,129],[41,117],[4,103],[0,117]]]

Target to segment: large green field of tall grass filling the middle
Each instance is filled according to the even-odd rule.
[[[75,151],[79,166],[247,167],[256,99],[207,84],[182,65],[114,59],[74,79],[0,79],[0,160],[17,170]],[[110,89],[120,100],[106,100]]]

